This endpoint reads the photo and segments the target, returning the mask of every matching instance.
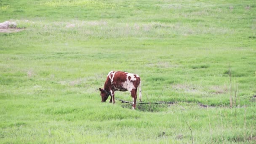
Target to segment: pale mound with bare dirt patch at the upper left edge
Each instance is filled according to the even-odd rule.
[[[17,24],[15,22],[5,21],[0,23],[0,32],[19,32],[23,29],[16,28]]]

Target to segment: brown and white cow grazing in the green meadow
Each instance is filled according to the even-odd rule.
[[[107,75],[104,88],[101,91],[101,102],[105,102],[109,96],[115,104],[115,91],[130,91],[133,98],[133,109],[136,108],[137,89],[139,87],[139,100],[141,101],[141,79],[139,75],[130,74],[128,72],[111,71]]]

